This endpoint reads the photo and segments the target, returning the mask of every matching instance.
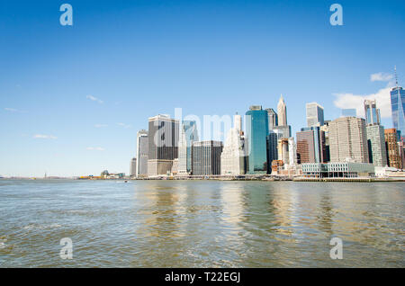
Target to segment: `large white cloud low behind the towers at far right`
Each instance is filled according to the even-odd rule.
[[[333,102],[338,108],[356,108],[357,115],[365,116],[365,100],[376,100],[377,108],[380,109],[382,118],[391,117],[391,87],[380,89],[375,94],[334,94],[337,99]]]

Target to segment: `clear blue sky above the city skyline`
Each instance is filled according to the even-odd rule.
[[[60,4],[74,25],[59,23]],[[329,6],[343,6],[331,26]],[[405,85],[405,2],[0,2],[0,174],[129,173],[148,117],[276,107],[293,133],[305,103],[325,119],[365,97],[389,117],[396,65]],[[374,75],[374,76],[372,76]],[[382,102],[382,103],[380,103]]]

